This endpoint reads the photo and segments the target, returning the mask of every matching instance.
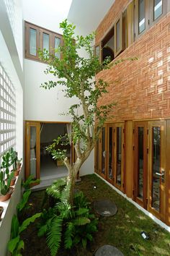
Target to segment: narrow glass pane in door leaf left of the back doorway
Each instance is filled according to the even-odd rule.
[[[36,178],[36,127],[30,127],[30,174]]]

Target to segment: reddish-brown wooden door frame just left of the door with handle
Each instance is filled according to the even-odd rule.
[[[138,197],[138,127],[143,127],[143,200]],[[147,209],[148,203],[148,121],[135,121],[134,129],[134,170],[133,200]]]

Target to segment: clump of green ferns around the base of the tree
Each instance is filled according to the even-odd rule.
[[[61,247],[66,249],[78,244],[84,248],[97,231],[97,218],[91,214],[89,202],[82,192],[74,195],[73,206],[69,203],[69,187],[61,179],[47,189],[48,195],[55,197],[53,208],[43,210],[38,236],[46,236],[50,254],[55,256]]]

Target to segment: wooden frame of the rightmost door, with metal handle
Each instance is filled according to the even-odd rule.
[[[166,221],[166,174],[165,182],[161,182],[160,186],[160,213],[152,207],[152,156],[153,156],[153,132],[152,127],[161,127],[161,168],[166,170],[166,121],[149,121],[149,153],[148,153],[148,211],[154,216],[160,218],[161,221]],[[161,179],[161,178],[160,178]]]

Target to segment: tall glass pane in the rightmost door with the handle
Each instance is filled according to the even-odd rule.
[[[152,140],[152,207],[160,210],[160,176],[161,171],[161,127],[153,127]]]

